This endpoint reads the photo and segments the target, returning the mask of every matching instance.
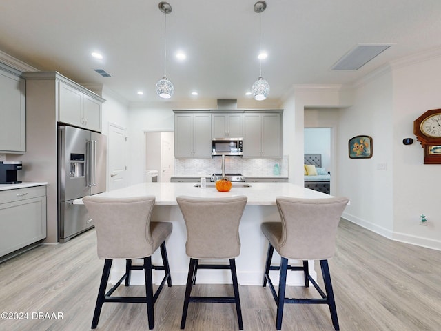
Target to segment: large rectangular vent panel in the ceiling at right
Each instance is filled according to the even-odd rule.
[[[338,60],[331,70],[358,70],[389,47],[390,44],[357,45]]]

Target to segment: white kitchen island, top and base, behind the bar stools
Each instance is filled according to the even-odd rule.
[[[207,183],[209,185],[210,183]],[[250,187],[240,187],[240,185]],[[141,183],[127,188],[98,194],[101,197],[139,197],[154,195],[152,221],[170,221],[173,231],[166,241],[167,254],[172,272],[174,285],[185,285],[187,281],[189,258],[185,254],[185,240],[187,237],[185,222],[181,210],[176,203],[176,197],[187,195],[192,197],[232,197],[245,195],[248,197],[247,206],[240,221],[240,256],[236,258],[238,282],[240,285],[262,285],[265,258],[268,242],[260,231],[263,221],[280,221],[276,206],[276,197],[298,198],[329,198],[328,194],[309,190],[291,183],[233,183],[229,192],[218,192],[214,187],[196,188],[195,183]],[[81,199],[74,203],[82,203]],[[141,260],[140,260],[141,261]],[[161,254],[156,252],[152,257],[153,263],[161,264]],[[227,262],[227,260],[225,260]],[[280,263],[280,257],[274,251],[274,263]],[[290,261],[291,264],[296,261]],[[314,262],[310,262],[310,271],[313,277]],[[110,283],[115,283],[125,272],[125,261],[115,260],[112,267]],[[275,275],[277,273],[274,273]],[[160,282],[163,272],[154,272],[154,281]],[[275,279],[276,281],[276,279]],[[143,284],[142,271],[132,272],[132,284]],[[278,282],[278,281],[277,281]],[[231,275],[227,270],[198,270],[197,283],[231,283]],[[289,272],[289,285],[302,285],[302,272]]]

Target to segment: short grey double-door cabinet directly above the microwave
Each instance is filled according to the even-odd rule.
[[[243,113],[213,113],[212,114],[212,138],[242,138],[243,137]]]

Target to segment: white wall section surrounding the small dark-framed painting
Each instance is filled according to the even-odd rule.
[[[390,70],[364,81],[353,96],[354,106],[340,110],[338,130],[339,192],[351,200],[343,216],[392,237],[393,93]],[[358,135],[372,137],[370,159],[349,159],[348,141]],[[387,170],[377,170],[378,163],[387,163]]]

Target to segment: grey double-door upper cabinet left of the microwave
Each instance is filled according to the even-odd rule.
[[[212,157],[212,114],[174,115],[174,157]]]

